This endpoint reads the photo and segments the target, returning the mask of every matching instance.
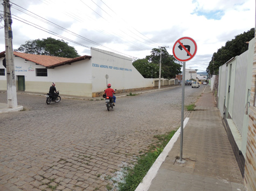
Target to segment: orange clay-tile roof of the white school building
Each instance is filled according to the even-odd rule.
[[[39,65],[43,65],[46,68],[55,68],[60,65],[71,64],[73,62],[78,62],[85,59],[90,59],[92,56],[80,56],[77,58],[63,58],[57,56],[46,56],[46,55],[36,55],[36,54],[26,54],[26,53],[18,53],[13,52],[15,56],[20,58],[24,58],[27,61],[34,62]],[[5,57],[5,51],[0,53],[0,58]]]

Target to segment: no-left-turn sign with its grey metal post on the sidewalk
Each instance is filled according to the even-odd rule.
[[[197,45],[195,40],[189,37],[183,37],[178,39],[174,43],[174,47],[172,48],[172,53],[176,60],[183,62],[183,70],[182,70],[182,104],[181,104],[181,147],[180,147],[180,155],[179,155],[179,163],[182,163],[182,153],[183,153],[183,121],[184,121],[184,99],[185,99],[185,70],[186,63],[185,61],[189,61],[196,55]]]

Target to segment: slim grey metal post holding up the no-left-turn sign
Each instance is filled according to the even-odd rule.
[[[184,100],[185,100],[185,68],[186,68],[186,63],[183,62],[183,69],[182,69],[182,101],[181,101],[181,145],[180,145],[179,163],[182,163],[182,152],[183,152],[183,122],[184,122]]]

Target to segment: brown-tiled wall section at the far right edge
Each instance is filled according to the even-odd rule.
[[[256,33],[256,31],[255,31]],[[251,78],[249,125],[245,156],[245,186],[248,191],[256,190],[256,42],[254,38],[254,57]]]

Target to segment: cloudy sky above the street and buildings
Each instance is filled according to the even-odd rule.
[[[3,0],[0,0],[3,3]],[[80,55],[90,47],[144,58],[184,36],[197,43],[186,68],[205,71],[226,41],[255,26],[255,0],[10,0],[13,48],[27,40],[63,39]],[[2,17],[3,6],[0,5]],[[4,46],[0,22],[0,52]],[[198,71],[198,72],[199,72]]]

